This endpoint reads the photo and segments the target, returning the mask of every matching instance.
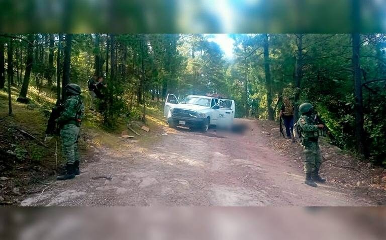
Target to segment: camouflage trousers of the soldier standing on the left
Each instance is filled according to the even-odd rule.
[[[73,124],[66,124],[60,130],[60,137],[62,139],[62,152],[67,160],[67,164],[74,164],[79,162],[78,151],[78,136],[79,127]]]

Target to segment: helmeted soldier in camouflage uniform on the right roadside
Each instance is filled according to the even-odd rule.
[[[322,163],[322,156],[319,149],[318,139],[323,136],[323,124],[315,122],[314,107],[310,103],[303,103],[299,106],[302,114],[298,120],[298,126],[302,133],[303,152],[306,156],[304,171],[306,172],[305,183],[316,187],[315,182],[323,183],[326,180],[319,176],[319,169]]]

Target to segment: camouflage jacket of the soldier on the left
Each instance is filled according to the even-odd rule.
[[[60,116],[55,120],[57,123],[64,125],[71,121],[77,121],[80,123],[84,116],[84,104],[80,99],[80,96],[69,96],[63,103],[63,110],[60,112]]]

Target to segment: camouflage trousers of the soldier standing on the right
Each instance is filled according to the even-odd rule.
[[[315,169],[319,169],[322,164],[322,155],[320,153],[320,148],[318,142],[309,142],[302,141],[303,152],[306,156],[304,162],[304,171],[306,173],[311,173]]]

